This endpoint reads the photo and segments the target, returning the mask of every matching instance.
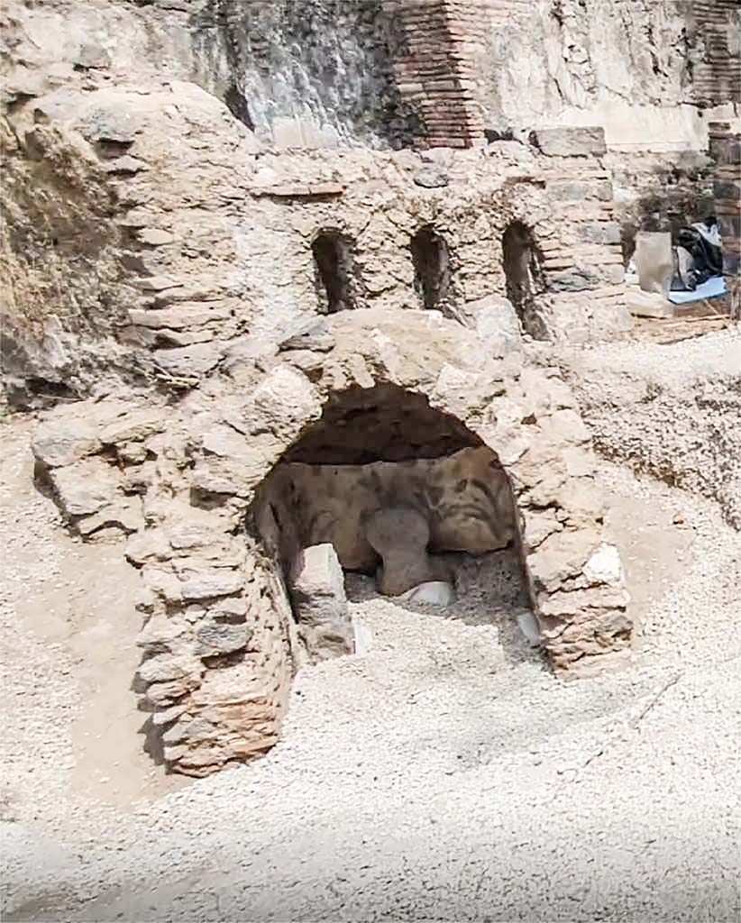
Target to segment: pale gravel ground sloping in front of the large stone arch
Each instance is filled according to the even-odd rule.
[[[363,655],[299,675],[267,758],[168,791],[111,736],[115,689],[80,681],[112,644],[118,549],[79,557],[30,488],[29,424],[3,428],[6,920],[739,919],[741,535],[710,503],[604,467],[643,607],[630,669],[552,677],[514,627],[506,556],[464,564],[445,614],[348,581]],[[61,618],[87,646],[42,630],[71,581],[88,595]],[[121,759],[86,790],[91,710]],[[125,777],[130,797],[103,796]]]

